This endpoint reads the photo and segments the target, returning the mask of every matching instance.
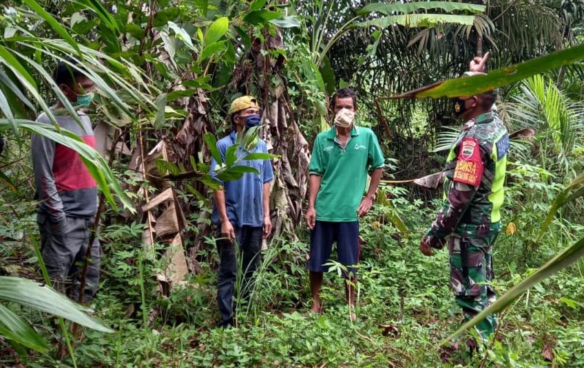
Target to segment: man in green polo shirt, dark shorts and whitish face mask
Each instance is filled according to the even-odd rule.
[[[328,268],[333,242],[337,242],[340,263],[346,266],[345,277],[349,305],[355,303],[355,288],[359,261],[359,221],[373,205],[373,195],[379,186],[384,166],[382,150],[375,133],[354,124],[357,112],[355,92],[339,89],[331,99],[335,114],[334,126],[319,133],[313,146],[309,165],[309,209],[306,224],[311,228],[311,252],[308,263],[313,305],[320,313],[320,284]],[[365,196],[368,171],[371,185]],[[355,314],[351,312],[351,318]]]

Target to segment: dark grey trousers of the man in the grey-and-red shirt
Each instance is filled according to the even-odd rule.
[[[67,216],[62,224],[54,224],[48,215],[39,213],[36,221],[41,230],[41,255],[53,287],[79,301],[81,272],[94,219]],[[98,288],[100,259],[101,247],[96,237],[85,277],[84,303],[91,301]]]

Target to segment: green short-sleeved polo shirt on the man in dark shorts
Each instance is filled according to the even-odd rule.
[[[384,166],[375,133],[353,127],[342,147],[335,128],[316,136],[309,165],[311,175],[322,176],[315,209],[318,221],[357,221],[357,207],[363,198],[367,173]]]

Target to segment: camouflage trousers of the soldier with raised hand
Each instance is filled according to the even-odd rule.
[[[481,231],[479,231],[481,232]],[[469,236],[470,235],[470,236]],[[462,231],[448,240],[450,284],[465,321],[486,309],[495,300],[491,285],[494,277],[492,245],[499,227],[487,229],[481,237],[474,231]],[[481,338],[488,338],[497,328],[497,318],[490,315],[475,327]]]

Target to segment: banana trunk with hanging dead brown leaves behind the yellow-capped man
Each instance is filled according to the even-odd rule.
[[[257,82],[258,98],[264,107],[262,122],[268,127],[262,132],[262,139],[271,153],[280,156],[273,160],[275,179],[270,195],[273,236],[284,232],[294,236],[294,228],[303,218],[302,201],[308,185],[310,151],[294,119],[286,81],[282,77],[285,58],[267,52],[283,47],[280,29],[275,34],[266,32],[263,42],[255,39],[249,58],[236,67],[233,83],[242,92],[249,93],[249,82]]]

